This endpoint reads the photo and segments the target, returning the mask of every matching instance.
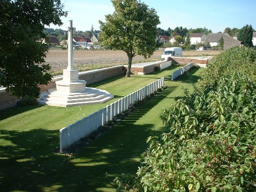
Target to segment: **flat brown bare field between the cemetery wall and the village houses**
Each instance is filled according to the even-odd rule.
[[[216,55],[220,51],[184,51],[184,56],[189,55]],[[151,56],[151,60],[161,60],[162,51],[155,51]],[[68,50],[56,50],[50,49],[47,53],[46,63],[52,66],[52,71],[58,71],[66,69],[68,66]],[[147,62],[143,56],[135,56],[133,63],[135,62]],[[124,65],[128,62],[128,58],[123,51],[112,50],[74,50],[74,65],[101,65],[101,64],[115,64]]]

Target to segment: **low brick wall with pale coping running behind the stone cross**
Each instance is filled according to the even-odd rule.
[[[86,80],[87,84],[98,82],[104,79],[115,77],[126,73],[126,68],[123,66],[115,66],[104,69],[91,70],[79,73],[79,79]],[[61,77],[55,77],[47,85],[40,85],[40,91],[46,91],[48,89],[56,88],[55,81],[61,80]],[[5,88],[0,89],[0,110],[12,108],[17,105],[19,98],[12,96],[10,93],[5,91]]]

